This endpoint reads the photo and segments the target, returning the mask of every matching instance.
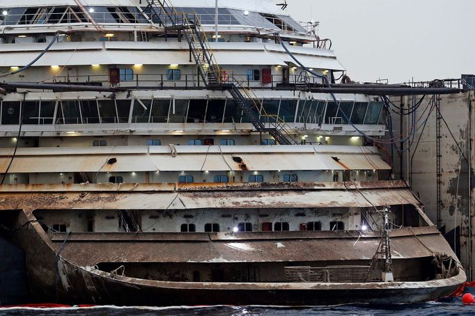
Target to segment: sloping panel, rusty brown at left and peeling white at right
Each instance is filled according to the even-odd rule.
[[[0,210],[192,210],[408,204],[419,205],[409,189],[0,193]]]

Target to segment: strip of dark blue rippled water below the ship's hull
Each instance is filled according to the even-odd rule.
[[[125,315],[232,315],[232,316],[280,316],[280,315],[475,315],[475,306],[464,306],[460,299],[444,302],[420,303],[414,305],[392,306],[332,306],[308,308],[277,308],[270,306],[210,306],[202,308],[118,308],[104,306],[98,308],[68,309],[1,309],[0,315],[50,316],[50,315],[84,315],[84,316],[125,316]]]

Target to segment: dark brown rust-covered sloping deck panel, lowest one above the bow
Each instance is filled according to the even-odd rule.
[[[295,233],[295,232],[294,232]],[[221,240],[193,239],[143,241],[129,235],[128,240],[103,240],[88,242],[74,233],[68,239],[61,254],[79,266],[94,266],[100,262],[309,262],[371,260],[380,243],[378,236],[340,238],[345,232],[334,232],[333,237],[286,239]],[[433,252],[452,254],[451,249],[436,228],[401,230],[391,237],[393,259],[430,257]],[[96,234],[90,234],[96,235]],[[101,238],[101,234],[97,234]],[[141,234],[137,234],[141,235]],[[298,234],[295,234],[298,235]],[[318,235],[318,234],[316,234]],[[191,236],[190,236],[191,237]],[[58,250],[65,238],[57,238],[54,248]],[[358,240],[358,241],[357,241]]]

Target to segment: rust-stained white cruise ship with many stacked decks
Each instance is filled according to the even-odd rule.
[[[0,232],[33,300],[410,303],[465,282],[318,23],[215,4],[0,0]]]

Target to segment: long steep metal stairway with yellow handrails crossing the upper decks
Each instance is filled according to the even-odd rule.
[[[233,76],[232,83],[221,81],[221,70],[212,54],[212,49],[205,32],[201,28],[201,22],[196,13],[178,13],[168,0],[147,0],[150,8],[150,19],[156,17],[165,28],[165,33],[169,31],[178,32],[185,36],[190,54],[193,56],[198,74],[206,88],[228,90],[233,97],[235,104],[239,106],[245,116],[250,120],[258,132],[267,132],[272,135],[281,145],[296,144],[291,136],[291,130],[279,116],[269,116],[265,113],[262,102],[254,95],[246,81]],[[243,94],[244,93],[244,94]],[[245,96],[244,96],[245,95]],[[259,115],[260,113],[260,115]],[[268,118],[265,123],[262,118]],[[267,124],[267,127],[266,127]]]

